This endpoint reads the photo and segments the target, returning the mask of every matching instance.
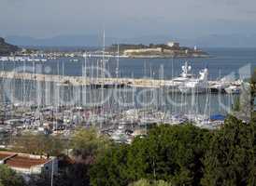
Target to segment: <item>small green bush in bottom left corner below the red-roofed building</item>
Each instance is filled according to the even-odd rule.
[[[0,186],[23,186],[24,180],[7,166],[0,165]]]

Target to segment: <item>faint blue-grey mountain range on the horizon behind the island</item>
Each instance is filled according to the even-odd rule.
[[[165,44],[179,42],[181,46],[199,47],[256,47],[256,34],[210,34],[198,38],[178,38],[170,35],[148,35],[133,38],[106,37],[106,46],[112,44]],[[7,36],[7,42],[17,46],[103,46],[101,35],[60,35],[36,39],[27,36]]]

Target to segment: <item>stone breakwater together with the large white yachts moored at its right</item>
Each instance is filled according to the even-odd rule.
[[[192,89],[200,93],[206,92],[206,89],[212,90],[212,92],[221,93],[239,93],[239,87],[242,84],[241,80],[236,81],[208,81],[207,69],[203,69],[199,74],[199,78],[193,78],[192,74],[189,74],[188,66],[186,62],[182,66],[182,73],[180,77],[164,80],[164,79],[149,79],[149,78],[115,78],[115,77],[84,77],[84,76],[66,76],[55,74],[40,74],[40,73],[16,73],[16,72],[3,72],[0,71],[0,78],[5,79],[20,79],[28,81],[40,81],[40,82],[54,82],[62,85],[72,86],[97,86],[97,87],[114,87],[114,86],[135,86],[135,87],[153,87],[160,88],[165,86],[173,89],[178,88],[179,92],[186,93],[191,92]],[[102,71],[100,69],[100,71]],[[99,72],[98,72],[99,73]],[[102,72],[100,72],[102,73]],[[103,73],[106,73],[105,71]],[[106,75],[106,74],[103,74]],[[171,90],[170,90],[171,91]],[[175,91],[175,90],[174,90]]]

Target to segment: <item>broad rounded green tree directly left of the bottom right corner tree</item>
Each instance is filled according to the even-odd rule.
[[[192,125],[155,127],[142,142],[133,143],[135,151],[128,157],[129,176],[197,185],[203,176],[201,158],[209,140],[207,130]]]

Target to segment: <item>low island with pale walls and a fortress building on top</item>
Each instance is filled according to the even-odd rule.
[[[204,58],[208,54],[196,46],[193,48],[179,46],[177,42],[168,42],[167,44],[149,44],[131,45],[131,44],[114,44],[108,46],[106,52],[111,55],[119,55],[127,58]]]

